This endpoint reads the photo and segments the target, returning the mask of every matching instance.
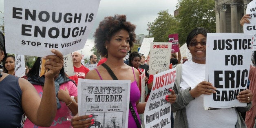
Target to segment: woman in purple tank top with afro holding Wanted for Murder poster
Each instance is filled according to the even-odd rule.
[[[139,121],[135,122],[135,117],[129,109],[128,116],[128,128],[140,127],[139,114],[144,112],[146,103],[140,103],[139,93],[139,72],[136,68],[130,67],[124,63],[124,57],[126,56],[128,49],[132,47],[135,42],[135,28],[134,24],[126,21],[126,15],[115,15],[105,17],[102,22],[99,23],[99,27],[95,32],[95,47],[97,51],[102,55],[106,55],[108,58],[104,63],[115,74],[119,80],[130,80],[130,102],[135,110],[134,115]],[[104,79],[112,80],[113,78],[108,73],[106,68],[102,65],[97,66],[95,70],[88,72],[86,79]],[[83,128],[93,124],[92,115],[75,116],[72,121],[74,128]],[[83,120],[87,119],[87,120]]]

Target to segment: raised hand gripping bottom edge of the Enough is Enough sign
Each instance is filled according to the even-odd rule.
[[[44,77],[49,79],[52,79],[57,74],[59,74],[64,64],[63,55],[60,51],[51,49],[51,52],[54,53],[55,55],[47,55],[43,57],[43,59],[48,60],[44,64],[45,69],[48,70],[44,74]]]

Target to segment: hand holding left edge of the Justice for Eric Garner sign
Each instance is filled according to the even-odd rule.
[[[215,90],[216,88],[212,86],[212,83],[203,81],[197,84],[195,88],[190,90],[190,95],[196,98],[202,94],[211,95],[212,93],[216,93]]]

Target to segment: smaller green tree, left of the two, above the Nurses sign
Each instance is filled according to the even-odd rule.
[[[149,22],[147,29],[154,37],[154,42],[168,42],[168,35],[175,33],[174,28],[177,26],[177,20],[168,13],[168,10],[160,11],[154,22]]]

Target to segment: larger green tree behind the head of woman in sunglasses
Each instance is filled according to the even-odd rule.
[[[188,33],[196,27],[204,27],[216,32],[215,0],[179,0],[177,8],[179,21],[176,29],[179,33],[179,42],[184,44]]]

